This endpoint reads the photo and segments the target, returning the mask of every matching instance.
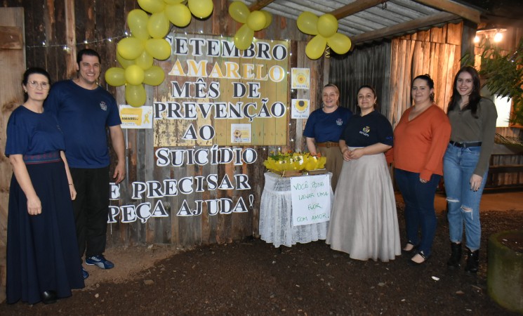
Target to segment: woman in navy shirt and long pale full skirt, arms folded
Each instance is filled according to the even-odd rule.
[[[340,139],[343,168],[334,195],[326,243],[357,260],[389,261],[401,254],[396,202],[385,152],[392,126],[374,110],[376,93],[362,86],[359,115],[350,118]]]

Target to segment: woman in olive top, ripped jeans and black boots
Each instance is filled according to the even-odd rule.
[[[449,103],[451,141],[443,160],[446,200],[449,205],[451,258],[447,265],[459,268],[461,240],[465,226],[467,265],[477,272],[479,266],[479,202],[489,171],[489,157],[496,134],[496,106],[479,95],[479,75],[470,66],[459,70]]]

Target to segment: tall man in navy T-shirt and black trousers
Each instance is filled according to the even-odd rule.
[[[114,264],[103,255],[110,192],[106,127],[118,158],[112,174],[115,183],[125,178],[124,133],[116,100],[97,84],[100,55],[92,49],[79,51],[77,72],[77,78],[53,85],[44,109],[57,114],[65,137],[65,154],[77,189],[73,209],[80,256],[86,254],[88,265],[110,269]],[[89,274],[82,270],[86,279]]]

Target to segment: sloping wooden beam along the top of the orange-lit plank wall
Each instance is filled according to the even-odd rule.
[[[436,13],[435,15],[430,15],[425,18],[419,18],[416,20],[411,20],[391,27],[384,27],[383,29],[376,29],[375,31],[362,33],[351,37],[352,44],[363,44],[369,41],[376,41],[378,39],[384,39],[387,37],[393,37],[398,34],[403,34],[406,32],[417,31],[423,27],[431,27],[440,23],[446,23],[451,21],[461,20],[461,17],[452,13]]]

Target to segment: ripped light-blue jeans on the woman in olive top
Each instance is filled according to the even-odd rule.
[[[479,202],[485,187],[488,170],[482,175],[479,190],[470,190],[470,177],[479,160],[481,147],[456,147],[449,144],[443,158],[443,178],[446,202],[449,206],[449,235],[451,242],[461,242],[465,226],[465,246],[471,251],[479,249],[481,224]]]

